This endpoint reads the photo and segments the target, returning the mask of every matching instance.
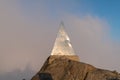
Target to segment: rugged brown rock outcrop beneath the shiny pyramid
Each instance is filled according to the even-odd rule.
[[[50,56],[31,80],[120,80],[120,75],[69,58]]]

